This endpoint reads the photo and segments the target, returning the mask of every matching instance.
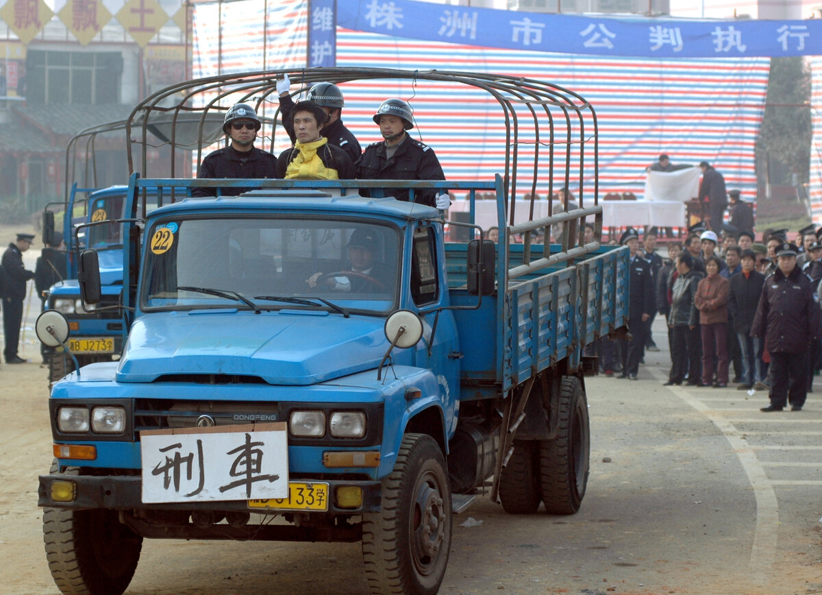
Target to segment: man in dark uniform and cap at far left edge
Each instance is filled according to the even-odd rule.
[[[25,282],[35,276],[23,266],[23,253],[35,239],[31,234],[17,234],[16,242],[8,244],[2,254],[3,286],[2,326],[6,335],[6,348],[3,356],[7,364],[25,364],[17,355],[17,344],[20,342],[20,325],[23,322],[23,300],[25,300]]]

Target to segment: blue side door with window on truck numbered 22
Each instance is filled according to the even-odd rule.
[[[438,309],[446,297],[445,267],[437,259],[436,231],[432,225],[421,225],[413,233],[411,253],[411,298],[423,318],[423,340],[415,353],[416,365],[432,370],[440,385],[446,412],[446,432],[454,430],[459,395],[459,351],[454,316],[450,310]],[[439,315],[437,315],[439,313]]]

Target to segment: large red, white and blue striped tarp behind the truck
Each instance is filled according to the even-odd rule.
[[[246,0],[222,5],[224,12],[235,15],[242,7],[242,21],[223,18],[222,73],[263,67],[261,26],[258,24],[255,30],[251,16],[255,11],[260,16],[259,4]],[[304,64],[306,2],[268,0],[268,4],[266,67]],[[215,11],[216,7],[194,7],[195,76],[207,76],[217,72],[216,21],[213,15],[205,16],[204,12],[201,17],[199,13]],[[232,33],[226,36],[229,23]],[[709,161],[725,176],[728,188],[741,189],[746,200],[755,198],[754,147],[764,111],[768,58],[603,58],[409,40],[338,28],[337,65],[500,72],[550,81],[579,93],[596,110],[600,197],[610,192],[630,192],[641,198],[645,167],[664,152],[675,165]],[[298,82],[293,80],[294,84]],[[496,101],[487,100],[484,92],[428,82],[412,86],[410,81],[346,83],[342,90],[346,101],[344,122],[363,146],[379,140],[372,115],[381,100],[401,97],[409,100],[415,110],[415,136],[435,149],[447,178],[493,179],[493,174],[502,170],[505,123]],[[589,132],[593,131],[588,128],[586,137]],[[522,140],[520,155],[527,156],[533,144]],[[565,155],[564,145],[556,148],[559,157],[555,188]],[[593,146],[586,145],[585,153],[586,168],[590,168]],[[542,159],[546,153],[540,155],[541,168],[547,169]],[[585,171],[586,176],[593,172]],[[522,193],[529,192],[529,175],[520,172],[520,176],[518,194],[520,188]],[[543,174],[539,177],[539,188],[544,191]],[[580,180],[572,176],[571,192],[579,193],[579,186]],[[593,187],[585,179],[584,197],[592,197],[592,193]]]

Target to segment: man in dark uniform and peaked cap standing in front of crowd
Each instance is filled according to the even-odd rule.
[[[770,354],[770,405],[760,411],[801,411],[808,391],[808,351],[822,337],[822,311],[810,279],[797,267],[795,244],[776,250],[777,270],[765,279],[750,334]]]

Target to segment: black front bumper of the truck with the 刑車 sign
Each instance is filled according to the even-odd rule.
[[[296,479],[296,478],[294,478]],[[75,495],[71,502],[58,502],[51,498],[52,481],[73,481]],[[311,481],[300,479],[298,481]],[[341,509],[330,497],[328,511],[313,514],[363,514],[380,511],[380,481],[348,480],[315,480],[317,483],[329,484],[329,494],[334,495],[337,487],[358,486],[363,490],[363,504],[358,509]],[[141,499],[142,480],[140,476],[83,476],[53,473],[39,476],[37,490],[39,506],[50,506],[58,509],[113,509],[113,510],[220,510],[242,512],[264,512],[261,509],[249,508],[247,500],[229,500],[222,502],[168,502],[163,504],[144,504]],[[284,511],[293,512],[293,511]],[[276,514],[279,511],[269,511]]]

